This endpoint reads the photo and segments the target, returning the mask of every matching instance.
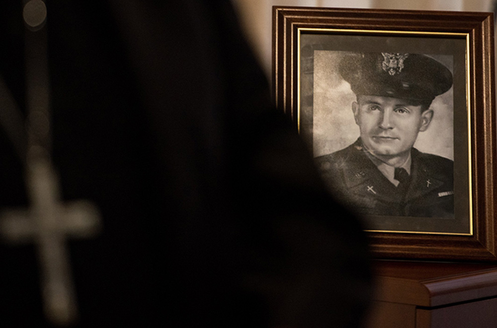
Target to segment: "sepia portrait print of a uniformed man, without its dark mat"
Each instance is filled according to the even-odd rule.
[[[359,213],[454,217],[452,56],[437,57],[315,53],[316,162]]]

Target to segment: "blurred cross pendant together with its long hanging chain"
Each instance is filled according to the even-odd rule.
[[[87,201],[61,202],[59,180],[51,161],[47,10],[42,0],[23,2],[27,108],[27,142],[24,144],[27,144],[17,152],[25,163],[31,207],[3,211],[0,231],[3,239],[11,243],[33,241],[36,244],[45,315],[53,324],[67,326],[78,318],[78,309],[66,239],[98,233],[100,215]],[[8,112],[11,116],[21,116],[17,108],[10,108]],[[13,143],[22,144],[18,140]]]

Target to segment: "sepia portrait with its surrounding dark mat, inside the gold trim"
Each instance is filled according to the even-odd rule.
[[[371,230],[467,233],[464,39],[306,32],[299,130]]]

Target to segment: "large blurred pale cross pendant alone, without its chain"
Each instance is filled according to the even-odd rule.
[[[67,326],[77,320],[78,308],[65,242],[69,237],[96,235],[100,216],[90,202],[61,203],[58,179],[48,161],[28,165],[26,186],[31,207],[2,212],[2,238],[11,244],[36,244],[45,316],[53,324]]]

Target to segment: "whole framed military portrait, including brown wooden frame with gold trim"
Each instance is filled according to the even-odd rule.
[[[273,7],[275,104],[377,258],[497,261],[493,22]]]

